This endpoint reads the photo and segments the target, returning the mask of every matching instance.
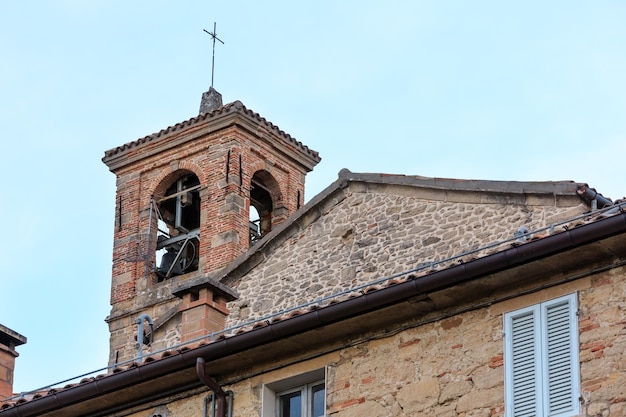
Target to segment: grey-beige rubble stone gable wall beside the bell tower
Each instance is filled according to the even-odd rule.
[[[359,284],[511,239],[575,217],[578,197],[442,193],[350,183],[321,204],[322,215],[231,283],[240,294],[227,325],[339,293]],[[493,249],[491,250],[493,251]],[[475,253],[469,257],[484,255]],[[457,262],[455,260],[454,262]]]

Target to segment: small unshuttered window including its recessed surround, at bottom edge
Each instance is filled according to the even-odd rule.
[[[263,387],[263,417],[323,417],[325,413],[324,369]]]

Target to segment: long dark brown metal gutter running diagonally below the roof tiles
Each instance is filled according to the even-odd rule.
[[[267,324],[249,332],[180,352],[154,362],[63,389],[0,411],[0,417],[34,417],[94,399],[125,387],[145,383],[170,373],[194,368],[198,358],[225,358],[246,349],[295,336],[383,308],[428,292],[519,266],[547,256],[626,233],[626,212],[597,220],[565,232],[506,249],[442,271],[433,272],[391,287],[363,294],[319,310]]]

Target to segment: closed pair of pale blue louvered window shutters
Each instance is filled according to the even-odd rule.
[[[580,413],[576,294],[504,316],[507,417]]]

